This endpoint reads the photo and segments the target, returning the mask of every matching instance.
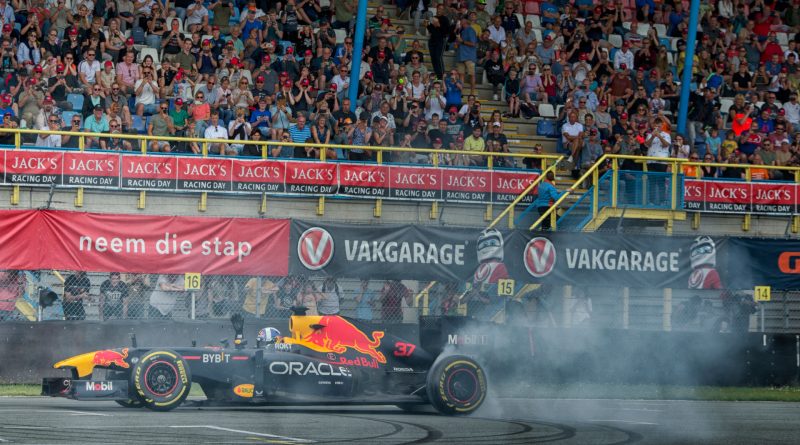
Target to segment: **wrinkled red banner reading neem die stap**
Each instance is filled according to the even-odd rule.
[[[283,276],[289,267],[288,220],[9,210],[0,243],[6,269]]]

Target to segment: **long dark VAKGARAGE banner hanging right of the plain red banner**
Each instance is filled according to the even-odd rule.
[[[289,272],[682,289],[800,288],[800,240],[292,221]]]

